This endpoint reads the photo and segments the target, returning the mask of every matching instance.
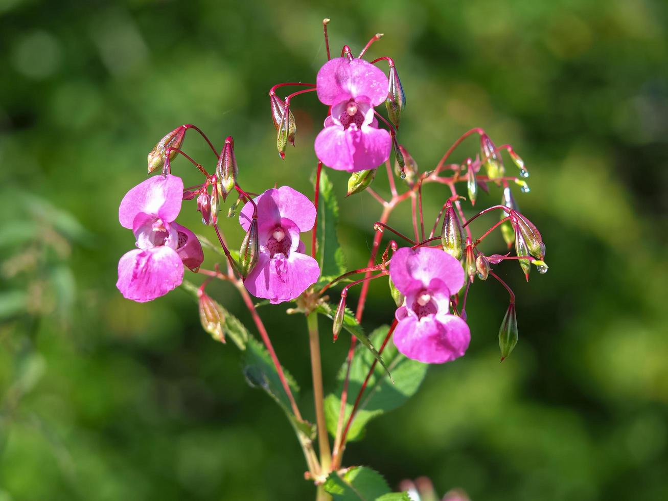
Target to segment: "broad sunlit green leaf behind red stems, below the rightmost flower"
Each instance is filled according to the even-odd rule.
[[[371,333],[371,342],[379,346],[387,335],[389,327],[386,325],[379,327]],[[418,391],[429,365],[415,360],[411,360],[399,353],[394,343],[388,341],[383,351],[383,357],[387,361],[388,368],[392,371],[394,384],[386,377],[385,372],[379,367],[374,369],[373,375],[369,378],[369,383],[364,391],[364,395],[357,407],[357,413],[348,430],[347,441],[359,440],[363,436],[366,424],[377,415],[383,412],[396,409],[399,405],[405,403],[412,395]],[[373,361],[373,355],[366,349],[358,347],[353,357],[353,363],[350,366],[350,379],[348,383],[348,399],[345,405],[344,423],[353,410],[355,397],[361,389],[369,367]],[[343,380],[345,379],[346,364],[344,363],[339,371],[337,379],[339,384],[335,393],[330,393],[325,398],[325,419],[327,420],[327,430],[334,436],[336,434],[339,411],[341,410],[341,391],[343,390]]]

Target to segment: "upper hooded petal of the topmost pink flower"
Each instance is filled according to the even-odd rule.
[[[367,98],[378,106],[387,98],[389,81],[383,71],[364,59],[336,57],[318,71],[316,90],[323,104],[339,104],[350,98]]]

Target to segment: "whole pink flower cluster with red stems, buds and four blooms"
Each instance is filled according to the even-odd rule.
[[[232,339],[240,349],[248,349],[247,339],[239,334],[242,332],[247,335],[247,329],[241,329],[236,318],[228,320],[224,306],[205,291],[213,279],[232,283],[251,311],[266,348],[267,357],[263,355],[263,359],[271,359],[285,395],[277,396],[280,390],[270,388],[275,378],[264,380],[263,387],[267,386],[265,389],[282,404],[289,403],[289,413],[299,434],[303,433],[300,430],[310,430],[311,426],[301,418],[289,378],[283,373],[251,295],[267,300],[262,303],[295,303],[295,307],[289,309],[288,313],[304,313],[309,319],[317,433],[323,462],[319,463],[315,458],[311,438],[301,436],[300,444],[309,464],[308,477],[314,478],[319,484],[323,484],[328,474],[341,467],[347,433],[367,383],[374,374],[376,363],[385,367],[383,350],[390,338],[399,353],[422,363],[446,363],[462,357],[471,339],[466,315],[469,289],[476,279],[487,281],[492,277],[506,289],[509,297],[508,309],[498,335],[503,360],[510,355],[518,341],[515,295],[508,284],[498,277],[494,267],[507,260],[516,260],[527,280],[532,265],[536,266],[539,273],[545,273],[548,269],[544,262],[545,245],[542,236],[536,225],[520,212],[512,196],[512,184],[520,186],[522,192],[529,191],[525,180],[528,170],[512,147],[503,145],[497,148],[484,130],[474,128],[458,138],[434,168],[420,172],[413,155],[397,140],[406,98],[395,62],[390,57],[379,57],[373,61],[363,59],[364,53],[381,35],[375,35],[359,57],[353,57],[346,45],[341,51],[341,57],[332,59],[327,43],[328,22],[328,19],[323,21],[328,61],[319,69],[316,83],[279,83],[269,91],[271,115],[277,131],[277,150],[281,158],[285,158],[287,143],[294,146],[297,134],[295,116],[290,108],[291,100],[315,92],[319,101],[328,107],[323,130],[317,134],[313,145],[318,160],[313,201],[291,186],[257,192],[245,190],[240,185],[244,170],[237,164],[231,136],[226,138],[218,152],[196,126],[180,126],[166,134],[148,155],[149,174],[156,171],[161,173],[132,188],[120,204],[120,223],[132,230],[137,248],[120,259],[117,283],[124,297],[139,302],[156,299],[183,283],[186,289],[195,291],[204,330],[218,341]],[[377,67],[377,63],[387,63],[388,73],[385,74]],[[289,94],[283,100],[277,95],[277,90],[286,86],[297,86],[301,90]],[[387,118],[383,118],[377,110],[383,102]],[[215,156],[210,165],[196,162],[181,149],[189,130],[198,132],[210,147]],[[480,138],[479,152],[460,162],[453,162],[451,156],[456,146],[465,138],[476,135]],[[502,152],[507,152],[519,169],[518,176],[506,172]],[[392,154],[393,166],[390,163]],[[178,157],[188,160],[200,172],[203,176],[200,184],[184,189],[182,180],[172,175],[172,162]],[[335,240],[333,233],[338,206],[333,198],[333,190],[323,190],[323,186],[331,186],[323,166],[351,174],[347,186],[349,195],[367,192],[381,204],[381,218],[373,225],[375,235],[370,246],[369,260],[366,266],[359,269],[346,271],[340,259],[344,249],[331,243]],[[383,170],[383,166],[387,170],[387,186],[375,190],[377,186],[372,188],[371,184],[377,177],[381,177],[377,176],[377,171]],[[305,180],[308,174],[304,172],[297,177]],[[434,214],[431,231],[430,224],[426,224],[429,223],[430,214],[425,216],[422,198],[422,188],[429,183],[448,188],[448,195],[438,200],[442,209]],[[458,188],[462,185],[465,185],[471,207],[476,200],[483,198],[478,198],[479,189],[490,192],[490,188],[501,188],[501,203],[467,216],[467,210],[462,205],[465,199],[458,194]],[[236,201],[232,201],[234,196],[237,196]],[[321,196],[329,197],[325,204],[320,203]],[[192,210],[198,210],[203,224],[214,229],[222,248],[224,261],[212,263],[212,269],[201,267],[204,254],[200,240],[188,228],[176,223],[184,200],[194,200]],[[411,236],[388,224],[391,212],[407,200],[411,200]],[[238,252],[228,247],[229,240],[222,228],[224,219],[219,218],[225,203],[229,203],[228,218],[238,214],[238,224],[245,232],[236,247]],[[329,210],[323,213],[323,207]],[[500,218],[478,233],[479,228],[474,228],[478,222],[475,225],[471,223],[495,211],[501,214]],[[482,247],[488,242],[482,242],[497,228],[508,244],[508,250],[514,245],[515,255],[511,256],[510,252],[503,255],[483,251]],[[311,238],[305,239],[306,242],[310,240],[308,250],[307,243],[302,240],[306,232],[311,232]],[[389,240],[385,252],[381,253],[383,237],[389,233],[392,238],[403,242],[403,246],[395,240]],[[202,239],[202,242],[208,247],[212,246],[208,240]],[[184,267],[206,277],[200,286],[184,281]],[[323,272],[323,269],[327,270]],[[375,346],[376,343],[372,343],[363,333],[361,319],[369,282],[381,277],[389,281],[390,297],[386,301],[391,305],[393,300],[396,308],[393,308],[393,318],[387,315],[391,319],[391,326],[387,329],[383,343]],[[325,292],[342,283],[346,285],[341,290],[339,306],[335,308],[329,303],[329,296]],[[358,286],[361,290],[353,315],[346,307],[347,295],[349,290]],[[317,377],[320,370],[317,315],[326,315],[332,320],[335,340],[344,327],[353,335],[345,370],[342,371],[345,374],[345,390],[337,395],[341,399],[341,410],[333,454],[329,452],[322,381]],[[352,410],[349,410],[346,391],[358,339],[363,349],[373,355],[373,362],[359,385]],[[272,379],[271,383],[269,379]]]

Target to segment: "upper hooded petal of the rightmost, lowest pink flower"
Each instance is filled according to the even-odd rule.
[[[460,262],[439,248],[400,248],[389,263],[389,276],[403,295],[420,288],[439,290],[444,286],[455,294],[464,285]]]

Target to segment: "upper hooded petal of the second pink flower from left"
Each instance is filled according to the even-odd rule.
[[[293,190],[290,186],[272,188],[254,198],[257,205],[259,226],[281,224],[281,218],[291,220],[300,232],[313,228],[315,223],[315,206],[309,198]],[[248,231],[253,218],[253,204],[245,204],[239,214],[239,223]]]

